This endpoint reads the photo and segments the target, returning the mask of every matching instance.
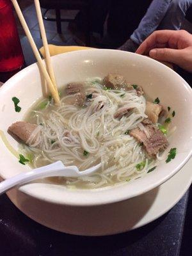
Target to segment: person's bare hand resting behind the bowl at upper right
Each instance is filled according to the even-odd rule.
[[[192,35],[185,30],[159,30],[136,50],[159,61],[168,61],[192,72]]]

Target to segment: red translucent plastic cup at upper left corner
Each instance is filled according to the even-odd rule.
[[[17,25],[10,0],[0,0],[0,72],[17,70],[24,65]]]

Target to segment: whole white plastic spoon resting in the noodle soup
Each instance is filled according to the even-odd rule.
[[[80,172],[77,166],[66,167],[61,161],[57,161],[56,163],[33,169],[30,172],[20,173],[10,179],[4,180],[0,183],[0,195],[15,186],[26,184],[32,180],[46,177],[82,177],[96,172],[99,168],[100,164],[97,164]]]

